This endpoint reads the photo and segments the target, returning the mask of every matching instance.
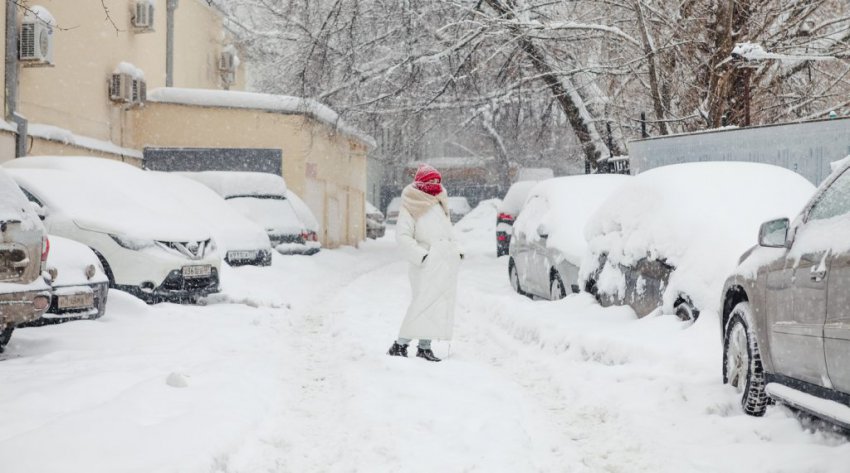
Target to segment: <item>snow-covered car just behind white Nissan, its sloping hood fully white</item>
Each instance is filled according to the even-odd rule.
[[[202,221],[212,232],[218,252],[231,266],[268,266],[272,247],[265,230],[236,211],[218,193],[198,181],[176,173],[147,173],[168,192],[182,210]]]

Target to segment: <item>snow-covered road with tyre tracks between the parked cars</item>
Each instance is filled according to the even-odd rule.
[[[491,235],[464,235],[442,363],[384,354],[409,297],[390,239],[230,270],[206,307],[113,293],[103,320],[22,329],[0,471],[847,471],[846,439],[740,412],[713,314],[530,301]]]

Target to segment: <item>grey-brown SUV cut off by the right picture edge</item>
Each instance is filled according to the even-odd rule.
[[[828,177],[793,222],[753,231],[726,280],[723,382],[747,414],[768,398],[850,428],[850,170]]]

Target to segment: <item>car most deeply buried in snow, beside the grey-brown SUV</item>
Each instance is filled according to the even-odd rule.
[[[814,191],[799,174],[743,162],[675,164],[631,179],[587,226],[583,288],[638,316],[717,312],[727,275],[765,220],[795,215]]]

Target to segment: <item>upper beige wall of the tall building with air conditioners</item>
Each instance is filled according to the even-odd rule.
[[[5,3],[5,2],[4,2]],[[165,85],[166,0],[156,0],[154,32],[131,25],[133,0],[39,0],[56,20],[54,67],[22,67],[19,110],[49,124],[119,146],[133,126],[126,106],[108,97],[108,80],[121,62],[141,69],[148,90]],[[23,13],[19,13],[23,17]],[[218,54],[227,44],[220,15],[201,0],[182,0],[175,14],[174,85],[221,89]],[[117,28],[117,30],[116,30]],[[240,68],[241,69],[241,68]],[[237,74],[233,88],[244,86]]]

